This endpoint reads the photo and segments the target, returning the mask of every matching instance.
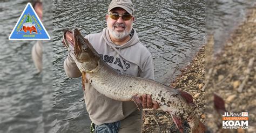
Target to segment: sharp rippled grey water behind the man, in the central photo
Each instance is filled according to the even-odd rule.
[[[53,108],[58,118],[54,131],[89,132],[81,79],[66,76],[63,62],[68,52],[61,40],[63,29],[78,28],[84,36],[101,32],[108,4],[53,2]],[[169,85],[205,41],[205,3],[136,2],[134,8],[134,28],[152,53],[155,78]]]

